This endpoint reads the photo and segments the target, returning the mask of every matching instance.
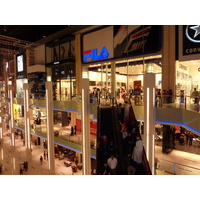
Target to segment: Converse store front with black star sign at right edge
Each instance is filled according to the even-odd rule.
[[[176,62],[176,95],[184,95],[187,102],[194,90],[200,93],[200,35],[199,25],[179,26],[179,57]]]

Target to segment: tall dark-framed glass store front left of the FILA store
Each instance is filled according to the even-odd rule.
[[[54,100],[76,96],[75,39],[67,37],[46,45],[47,80],[53,82]]]

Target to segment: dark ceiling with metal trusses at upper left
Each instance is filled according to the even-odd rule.
[[[0,60],[88,27],[91,25],[0,25]]]

